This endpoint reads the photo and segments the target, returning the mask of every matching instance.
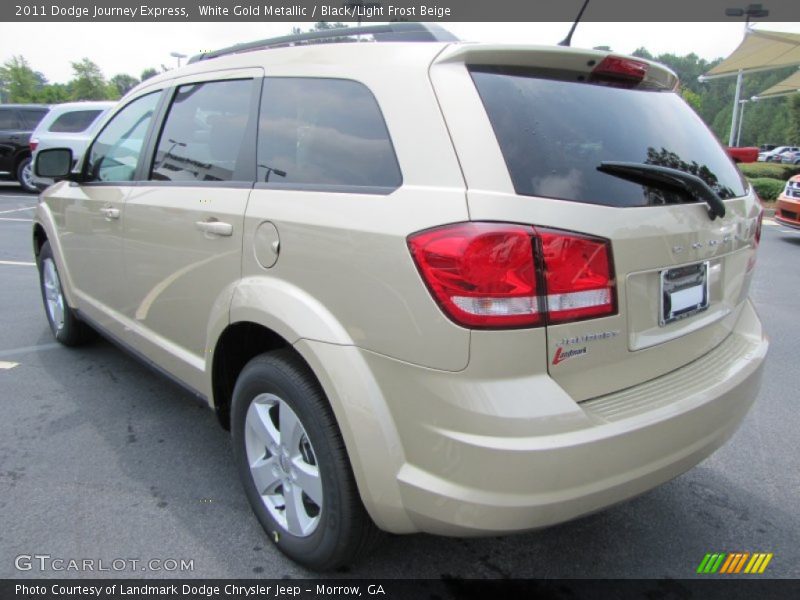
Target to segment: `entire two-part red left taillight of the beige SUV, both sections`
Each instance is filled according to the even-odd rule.
[[[616,312],[607,240],[458,223],[414,234],[408,245],[434,298],[466,327],[531,327]]]

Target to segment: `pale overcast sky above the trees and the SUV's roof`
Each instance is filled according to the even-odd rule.
[[[556,44],[570,23],[445,23],[463,40]],[[88,57],[110,78],[139,77],[149,67],[174,68],[172,52],[197,54],[232,44],[287,35],[311,23],[0,23],[0,63],[24,56],[51,83],[72,78],[71,62]],[[757,29],[800,33],[800,23],[765,23]],[[581,23],[572,45],[610,46],[630,53],[644,46],[654,55],[689,54],[712,60],[730,54],[742,40],[743,24]]]

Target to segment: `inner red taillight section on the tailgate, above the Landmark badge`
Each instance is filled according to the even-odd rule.
[[[548,322],[616,312],[609,242],[549,229],[536,231],[544,259]]]

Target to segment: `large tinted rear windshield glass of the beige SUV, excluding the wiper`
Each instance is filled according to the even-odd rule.
[[[471,67],[514,189],[607,206],[686,202],[597,170],[603,161],[679,169],[721,198],[745,194],[739,171],[673,92],[548,79],[519,68]]]

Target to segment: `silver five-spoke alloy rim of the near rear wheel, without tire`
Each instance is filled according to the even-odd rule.
[[[322,479],[297,414],[278,396],[260,394],[247,410],[244,434],[250,474],[264,506],[291,535],[311,535],[322,514]]]

